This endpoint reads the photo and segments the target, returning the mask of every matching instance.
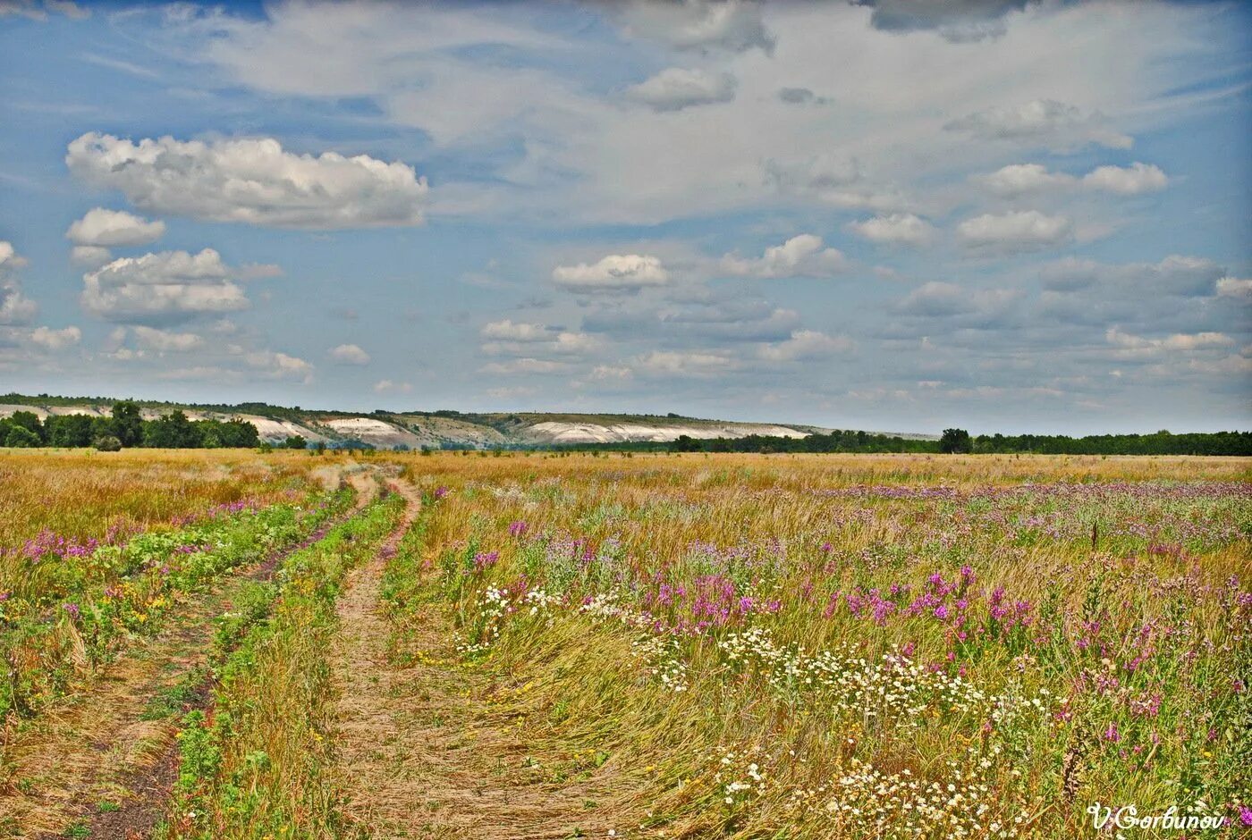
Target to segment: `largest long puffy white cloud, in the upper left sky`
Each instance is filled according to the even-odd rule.
[[[277,228],[421,224],[428,192],[401,161],[294,154],[270,138],[133,143],[91,131],[69,144],[65,164],[144,210]]]

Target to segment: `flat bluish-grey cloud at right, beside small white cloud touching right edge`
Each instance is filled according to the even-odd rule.
[[[1159,263],[1099,263],[1065,258],[1039,272],[1044,288],[1074,292],[1108,284],[1122,294],[1203,297],[1221,293],[1226,270],[1211,259],[1173,254]]]

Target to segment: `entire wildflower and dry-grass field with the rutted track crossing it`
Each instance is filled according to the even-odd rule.
[[[1252,825],[1242,459],[44,452],[0,477],[0,837]]]

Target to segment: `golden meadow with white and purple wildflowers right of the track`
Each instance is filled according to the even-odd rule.
[[[1246,462],[404,462],[438,501],[394,602],[454,611],[536,772],[632,791],[618,834],[1252,821]]]

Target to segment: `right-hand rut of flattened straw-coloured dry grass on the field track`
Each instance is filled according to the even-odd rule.
[[[406,523],[416,517],[412,488]],[[487,677],[466,668],[453,628],[431,605],[406,638],[416,666],[388,657],[392,628],[379,582],[388,548],[349,577],[332,653],[339,690],[339,786],[346,812],[372,837],[501,840],[607,836],[613,799],[603,777],[552,782],[505,715],[490,711]]]

